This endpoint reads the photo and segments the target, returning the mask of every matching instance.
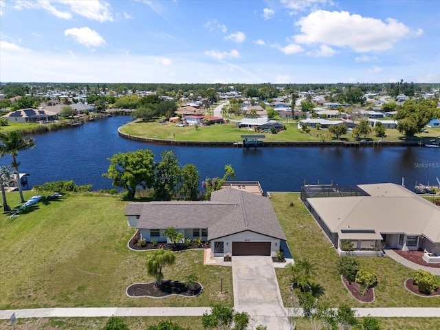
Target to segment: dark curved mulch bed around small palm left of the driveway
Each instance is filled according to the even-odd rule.
[[[162,281],[162,285],[157,286],[154,282],[152,283],[137,283],[130,285],[126,289],[126,294],[131,297],[153,297],[153,298],[164,298],[171,296],[173,294],[178,294],[179,296],[193,297],[201,294],[200,283],[194,283],[191,287],[186,288],[184,283],[177,281]]]

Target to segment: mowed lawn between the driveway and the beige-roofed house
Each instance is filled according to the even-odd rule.
[[[314,281],[325,288],[322,303],[337,307],[342,303],[351,307],[440,307],[440,298],[423,298],[411,294],[404,281],[413,277],[414,270],[391,258],[360,257],[361,267],[377,274],[375,301],[364,304],[355,300],[342,284],[336,270],[338,254],[327,236],[300,201],[299,193],[272,193],[272,205],[288,239],[294,259],[307,258],[316,265]],[[289,206],[293,202],[294,206]],[[291,279],[286,270],[276,268],[283,300],[289,300]]]

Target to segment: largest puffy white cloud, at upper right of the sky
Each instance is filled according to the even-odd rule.
[[[409,28],[395,19],[362,17],[349,12],[318,10],[300,19],[296,43],[351,47],[355,52],[383,52],[408,36]]]

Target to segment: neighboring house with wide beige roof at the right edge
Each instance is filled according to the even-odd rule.
[[[358,252],[387,245],[440,254],[439,206],[404,186],[304,186],[301,199],[340,254],[343,240],[351,241]]]

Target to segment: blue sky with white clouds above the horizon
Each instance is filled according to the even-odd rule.
[[[0,81],[440,83],[440,1],[0,0]]]

